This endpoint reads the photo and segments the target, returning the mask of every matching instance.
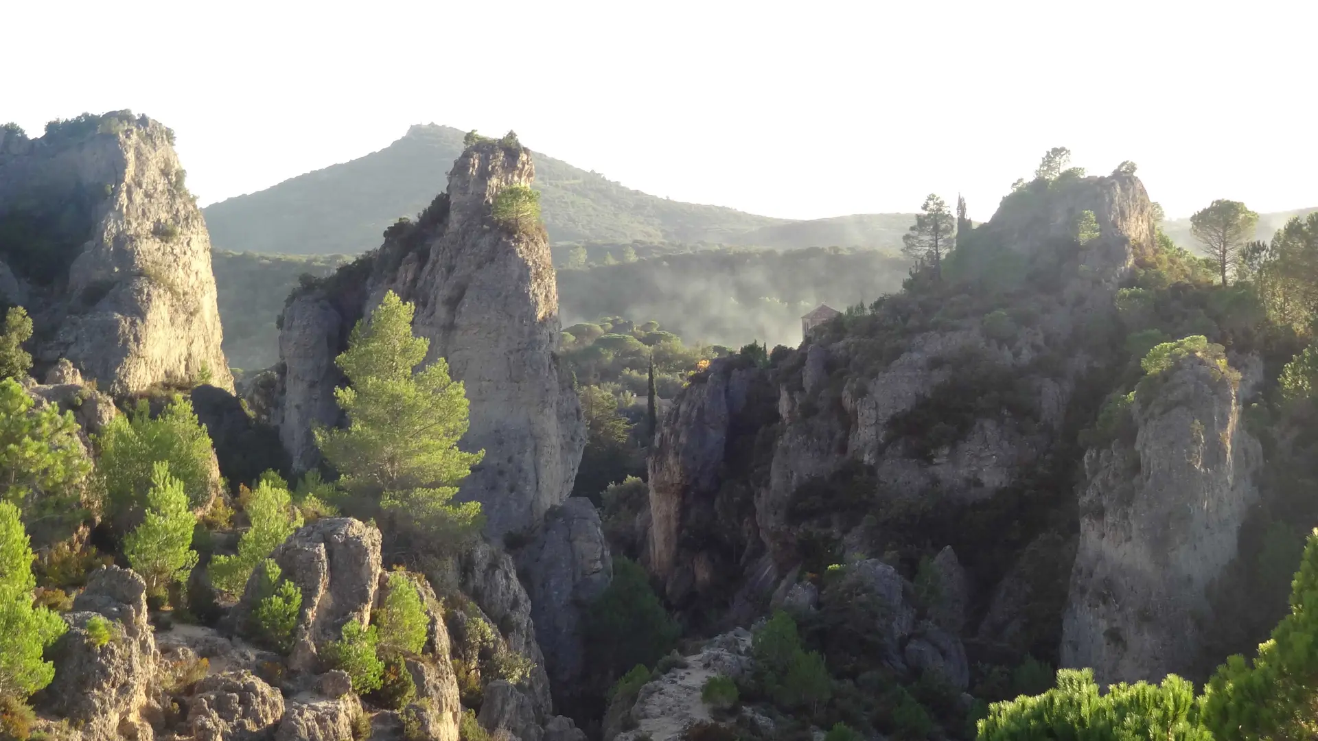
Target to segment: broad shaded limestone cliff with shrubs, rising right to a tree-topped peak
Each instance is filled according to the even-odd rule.
[[[1085,211],[1098,235],[1081,243]],[[945,266],[974,291],[887,297],[767,368],[714,361],[664,415],[648,461],[648,568],[668,599],[745,620],[803,562],[883,554],[903,517],[941,517],[942,545],[973,554],[956,514],[1043,488],[1027,484],[1056,468],[1069,411],[1093,403],[1078,384],[1110,361],[1086,352],[1085,327],[1114,316],[1120,281],[1153,248],[1133,175],[1035,183]],[[1023,550],[1029,527],[1041,523],[1017,523],[1003,547]],[[981,589],[1004,571],[983,566]]]

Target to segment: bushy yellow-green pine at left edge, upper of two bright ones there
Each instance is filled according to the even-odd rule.
[[[53,405],[34,409],[17,381],[0,381],[0,498],[29,522],[76,518],[91,471],[71,413]]]

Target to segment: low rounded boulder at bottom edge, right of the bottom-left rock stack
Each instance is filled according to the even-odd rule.
[[[196,683],[187,725],[195,741],[257,741],[274,736],[283,695],[250,671],[227,671]]]

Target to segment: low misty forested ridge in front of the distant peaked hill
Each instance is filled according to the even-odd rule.
[[[645,316],[689,340],[795,345],[803,314],[820,303],[842,310],[896,290],[909,265],[894,254],[836,248],[668,249],[670,243],[593,244],[585,249],[592,258],[583,258],[579,268],[564,268],[571,256],[560,251],[564,326],[601,316]],[[273,365],[278,360],[275,320],[299,276],[323,277],[348,260],[343,254],[216,251],[215,285],[229,365],[244,370]]]

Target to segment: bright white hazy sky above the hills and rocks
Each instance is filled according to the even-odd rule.
[[[502,134],[679,200],[985,219],[1049,146],[1169,216],[1318,206],[1315,0],[0,0],[0,121],[173,127],[202,203]]]

